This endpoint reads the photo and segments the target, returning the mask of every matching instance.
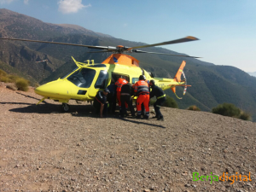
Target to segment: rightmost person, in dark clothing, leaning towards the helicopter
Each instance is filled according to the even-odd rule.
[[[155,111],[155,117],[158,120],[164,120],[164,117],[162,115],[162,113],[160,112],[160,107],[162,106],[162,104],[164,102],[166,102],[166,94],[164,93],[164,91],[155,85],[154,80],[150,80],[149,82],[149,86],[151,87],[151,92],[150,92],[150,98],[152,97],[156,97],[156,102],[154,102],[154,111]]]

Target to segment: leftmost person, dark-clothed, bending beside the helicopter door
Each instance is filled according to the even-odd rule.
[[[95,108],[94,113],[96,115],[100,114],[102,118],[103,115],[107,115],[108,113],[108,103],[107,96],[110,91],[106,88],[105,90],[99,90],[94,98],[93,107]]]

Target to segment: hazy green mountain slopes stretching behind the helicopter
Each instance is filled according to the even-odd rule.
[[[143,43],[113,38],[99,32],[92,32],[81,26],[71,24],[49,24],[26,15],[0,9],[0,37],[29,38],[45,41],[55,41],[71,44],[137,46]],[[157,38],[155,38],[157,42]],[[15,67],[20,73],[35,79],[41,84],[69,73],[75,67],[71,56],[77,61],[88,59],[102,62],[109,55],[107,53],[90,54],[87,48],[77,48],[66,45],[35,44],[24,42],[3,41],[0,44],[0,61]],[[152,52],[178,54],[169,49],[148,48]],[[177,73],[183,60],[187,61],[184,69],[189,87],[183,100],[178,100],[171,90],[166,94],[177,100],[179,108],[188,108],[196,105],[201,110],[210,111],[218,103],[231,102],[237,107],[252,113],[256,120],[256,79],[236,67],[215,66],[212,63],[193,58],[175,57],[167,55],[132,54],[140,61],[140,67],[152,71],[155,77],[170,78]],[[203,56],[203,55],[202,55]],[[43,65],[35,61],[48,59],[45,79],[42,72]],[[178,96],[183,95],[183,90],[178,89]]]

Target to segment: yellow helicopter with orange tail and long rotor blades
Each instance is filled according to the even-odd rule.
[[[51,81],[47,84],[38,86],[35,92],[43,96],[43,98],[37,103],[44,102],[45,99],[51,99],[55,102],[61,102],[61,109],[63,112],[68,112],[70,106],[68,105],[69,100],[88,101],[92,102],[96,96],[98,90],[103,90],[108,87],[109,84],[114,84],[120,77],[126,79],[131,84],[135,84],[140,75],[145,75],[148,82],[154,79],[155,84],[162,90],[171,89],[176,94],[176,87],[183,86],[185,95],[187,87],[191,86],[187,84],[187,79],[183,73],[183,67],[186,65],[186,61],[183,61],[181,66],[178,68],[174,79],[163,79],[154,78],[153,73],[148,73],[143,68],[139,67],[139,61],[131,55],[125,55],[125,53],[145,53],[145,54],[158,54],[158,55],[174,55],[164,54],[157,52],[148,52],[139,50],[141,48],[160,46],[165,44],[179,44],[184,42],[190,42],[199,40],[198,38],[188,36],[186,38],[179,38],[172,41],[167,41],[159,44],[147,44],[137,47],[125,47],[118,45],[112,46],[91,46],[84,44],[66,44],[60,42],[48,42],[30,39],[20,38],[0,38],[2,40],[15,40],[15,41],[26,41],[26,42],[37,42],[45,44],[63,44],[71,46],[87,47],[90,49],[102,49],[101,51],[90,51],[89,53],[106,53],[112,52],[113,54],[108,56],[102,63],[94,63],[94,60],[87,60],[85,62],[76,61],[73,56],[72,59],[76,64],[76,68],[68,73],[66,76],[59,78],[55,81]],[[175,55],[183,57],[200,58],[189,55]],[[181,79],[183,75],[183,80]],[[182,99],[177,96],[178,99]],[[136,97],[134,97],[136,99]]]

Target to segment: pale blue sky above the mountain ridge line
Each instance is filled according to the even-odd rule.
[[[256,71],[255,0],[0,0],[0,8],[146,44],[194,36],[201,40],[163,47]]]

